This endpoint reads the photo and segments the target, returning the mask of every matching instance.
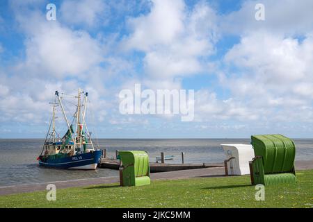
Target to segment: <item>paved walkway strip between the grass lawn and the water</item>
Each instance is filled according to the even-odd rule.
[[[296,162],[296,169],[313,169],[313,160]],[[220,177],[224,176],[224,167],[204,168],[204,169],[190,169],[184,171],[171,171],[163,173],[151,173],[152,180],[177,180],[184,178],[206,178],[206,177]],[[109,178],[86,178],[81,180],[67,180],[58,182],[44,182],[34,185],[16,185],[0,187],[0,196],[8,194],[26,193],[32,191],[45,190],[49,183],[56,185],[58,189],[67,187],[85,187],[90,185],[102,185],[114,182],[119,182],[118,176]]]

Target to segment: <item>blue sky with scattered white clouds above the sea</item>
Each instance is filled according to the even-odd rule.
[[[56,4],[56,21],[46,6]],[[262,3],[265,20],[255,19]],[[313,3],[1,1],[0,138],[45,137],[54,91],[102,138],[312,137]],[[194,119],[121,114],[119,92],[193,89]],[[69,112],[72,111],[68,110]],[[65,131],[59,113],[60,133]]]

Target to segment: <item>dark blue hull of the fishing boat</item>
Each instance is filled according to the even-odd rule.
[[[56,159],[47,158],[46,160],[40,158],[39,165],[42,167],[52,167],[58,169],[84,169],[84,167],[99,164],[101,160],[102,151],[93,151],[89,153],[82,153],[73,155],[71,157],[62,157]],[[86,168],[88,169],[88,168]]]

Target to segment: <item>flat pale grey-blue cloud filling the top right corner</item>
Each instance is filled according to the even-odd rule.
[[[255,5],[264,4],[265,21],[255,19]],[[268,31],[285,35],[305,35],[312,31],[313,1],[257,0],[243,1],[240,10],[220,17],[224,33],[243,35],[251,31]]]

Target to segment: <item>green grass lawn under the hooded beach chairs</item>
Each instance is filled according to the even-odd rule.
[[[250,176],[153,180],[143,187],[118,184],[57,189],[0,196],[0,207],[313,207],[313,170],[297,171],[296,185],[265,188],[265,200],[255,200]]]

